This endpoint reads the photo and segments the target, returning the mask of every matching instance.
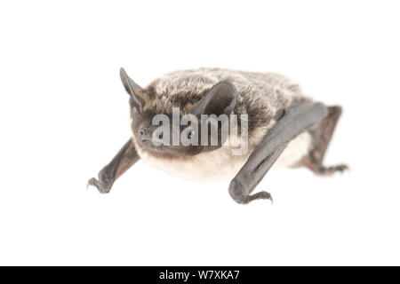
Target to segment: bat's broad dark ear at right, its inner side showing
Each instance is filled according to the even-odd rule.
[[[236,105],[237,91],[228,81],[215,84],[208,91],[200,103],[195,106],[191,114],[231,114]]]

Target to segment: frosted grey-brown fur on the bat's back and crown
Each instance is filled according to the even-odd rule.
[[[249,115],[249,134],[265,127],[276,112],[301,98],[300,86],[274,73],[252,73],[219,68],[199,68],[168,73],[156,78],[141,92],[145,110],[171,113],[172,106],[188,113],[212,86],[220,81],[233,83],[238,91],[235,114]]]

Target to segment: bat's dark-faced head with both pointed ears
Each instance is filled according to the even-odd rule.
[[[174,101],[175,106],[164,106],[162,95],[149,95],[123,68],[121,80],[130,96],[131,127],[139,150],[157,157],[181,158],[216,150],[228,138],[229,115],[237,96],[232,83],[215,84],[188,109],[183,105],[188,105],[190,96]]]

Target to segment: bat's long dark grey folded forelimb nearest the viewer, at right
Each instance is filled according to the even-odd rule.
[[[328,114],[322,103],[295,102],[283,110],[283,114],[259,146],[250,155],[243,168],[232,179],[229,194],[238,203],[248,203],[256,199],[270,199],[267,192],[250,195],[277,158],[284,152],[289,142]]]

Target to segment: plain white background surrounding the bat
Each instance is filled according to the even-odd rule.
[[[3,1],[0,264],[400,264],[396,1]],[[273,169],[243,206],[228,182],[135,164],[89,177],[130,137],[119,67],[141,85],[228,67],[288,75],[344,107],[332,178]]]

